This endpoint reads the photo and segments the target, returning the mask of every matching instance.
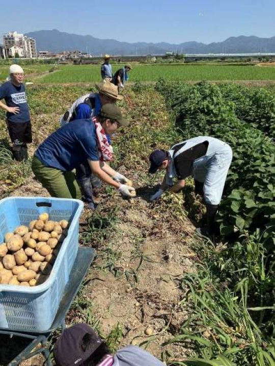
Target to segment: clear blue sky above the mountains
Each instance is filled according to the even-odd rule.
[[[41,29],[126,42],[275,36],[275,0],[2,0],[0,36]]]

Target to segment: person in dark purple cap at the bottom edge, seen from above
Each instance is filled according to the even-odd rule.
[[[164,366],[164,363],[137,346],[126,346],[114,355],[88,324],[80,323],[63,331],[53,348],[57,366]]]

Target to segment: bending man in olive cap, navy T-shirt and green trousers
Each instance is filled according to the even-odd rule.
[[[122,184],[125,177],[105,163],[112,159],[105,134],[112,135],[119,126],[128,125],[114,104],[105,104],[98,119],[73,120],[53,132],[38,147],[32,162],[35,177],[52,197],[81,199],[72,170],[88,161],[94,174],[130,197],[134,189]]]

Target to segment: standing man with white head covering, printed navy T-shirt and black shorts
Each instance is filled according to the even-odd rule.
[[[14,64],[10,66],[8,81],[0,86],[0,107],[7,111],[12,153],[17,161],[28,160],[27,144],[32,142],[30,111],[23,80],[23,69]],[[6,104],[1,99],[5,99]]]

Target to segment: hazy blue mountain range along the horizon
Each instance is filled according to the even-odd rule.
[[[115,39],[99,39],[93,36],[80,36],[60,32],[57,29],[27,33],[26,36],[36,40],[39,51],[62,52],[79,50],[93,55],[110,53],[113,55],[144,55],[178,53],[257,53],[275,52],[275,37],[259,38],[256,36],[230,37],[223,42],[209,44],[184,42],[180,44],[128,43]]]

